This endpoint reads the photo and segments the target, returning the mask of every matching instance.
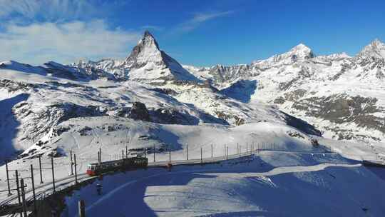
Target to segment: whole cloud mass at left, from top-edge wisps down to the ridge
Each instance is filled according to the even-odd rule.
[[[53,60],[121,58],[140,34],[98,19],[120,1],[0,0],[0,61],[28,64]]]

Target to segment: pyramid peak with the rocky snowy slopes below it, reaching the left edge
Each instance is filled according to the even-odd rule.
[[[248,104],[257,85],[254,81],[239,81],[220,91],[197,79],[160,51],[148,31],[123,61],[81,61],[71,66],[5,61],[0,74],[4,110],[0,128],[8,132],[1,134],[2,158],[17,150],[26,150],[24,157],[39,151],[56,154],[51,138],[66,131],[61,124],[90,116],[225,127],[267,121],[320,135],[313,126],[274,106]]]

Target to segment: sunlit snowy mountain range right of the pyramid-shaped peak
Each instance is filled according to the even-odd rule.
[[[241,93],[239,81],[255,82],[254,102],[274,104],[314,124],[324,136],[384,141],[385,45],[375,40],[354,57],[315,56],[304,44],[269,59],[236,66],[185,66],[200,79]],[[244,89],[244,93],[250,88]]]

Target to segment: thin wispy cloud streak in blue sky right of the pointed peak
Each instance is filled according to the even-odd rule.
[[[196,29],[201,24],[203,24],[205,21],[216,19],[222,16],[227,16],[232,13],[234,13],[234,11],[205,12],[205,13],[195,14],[192,19],[178,25],[175,28],[175,33],[192,31],[193,29]]]

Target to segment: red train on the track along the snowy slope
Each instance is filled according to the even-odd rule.
[[[133,158],[124,158],[117,161],[105,161],[101,163],[89,163],[87,166],[87,174],[90,176],[98,176],[101,173],[110,171],[131,170],[135,168],[146,168],[148,158],[141,156]]]

